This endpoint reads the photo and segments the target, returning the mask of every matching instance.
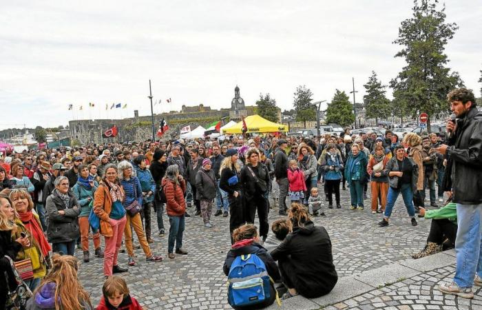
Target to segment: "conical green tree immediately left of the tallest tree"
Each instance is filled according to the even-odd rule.
[[[368,78],[368,83],[364,85],[366,95],[363,96],[365,104],[366,117],[375,118],[378,123],[379,118],[387,118],[391,114],[390,100],[385,96],[386,85],[382,85],[377,79],[377,73],[372,71],[372,75]]]

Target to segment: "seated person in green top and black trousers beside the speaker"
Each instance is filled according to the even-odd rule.
[[[432,254],[453,249],[457,236],[457,205],[452,203],[452,193],[449,192],[448,203],[440,209],[427,210],[419,207],[419,216],[432,218],[427,244],[423,250],[412,255],[413,259],[422,258]]]

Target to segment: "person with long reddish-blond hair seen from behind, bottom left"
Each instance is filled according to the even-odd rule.
[[[77,278],[78,260],[74,256],[52,255],[52,270],[27,302],[29,310],[92,310],[89,293]]]

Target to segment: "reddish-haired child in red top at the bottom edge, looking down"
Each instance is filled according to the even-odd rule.
[[[102,287],[103,298],[96,310],[142,310],[136,298],[129,295],[125,280],[118,276],[110,276]]]

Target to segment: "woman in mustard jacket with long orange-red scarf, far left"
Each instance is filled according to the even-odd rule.
[[[14,223],[17,225],[17,229],[12,234],[12,238],[17,240],[21,238],[23,233],[30,242],[29,247],[21,249],[17,256],[12,259],[19,261],[30,258],[34,278],[26,280],[25,284],[33,291],[40,285],[40,281],[47,273],[46,262],[49,260],[49,251],[52,248],[43,234],[39,216],[32,211],[34,203],[30,194],[25,189],[13,189],[10,192],[10,199],[12,207],[17,211],[14,214]]]

